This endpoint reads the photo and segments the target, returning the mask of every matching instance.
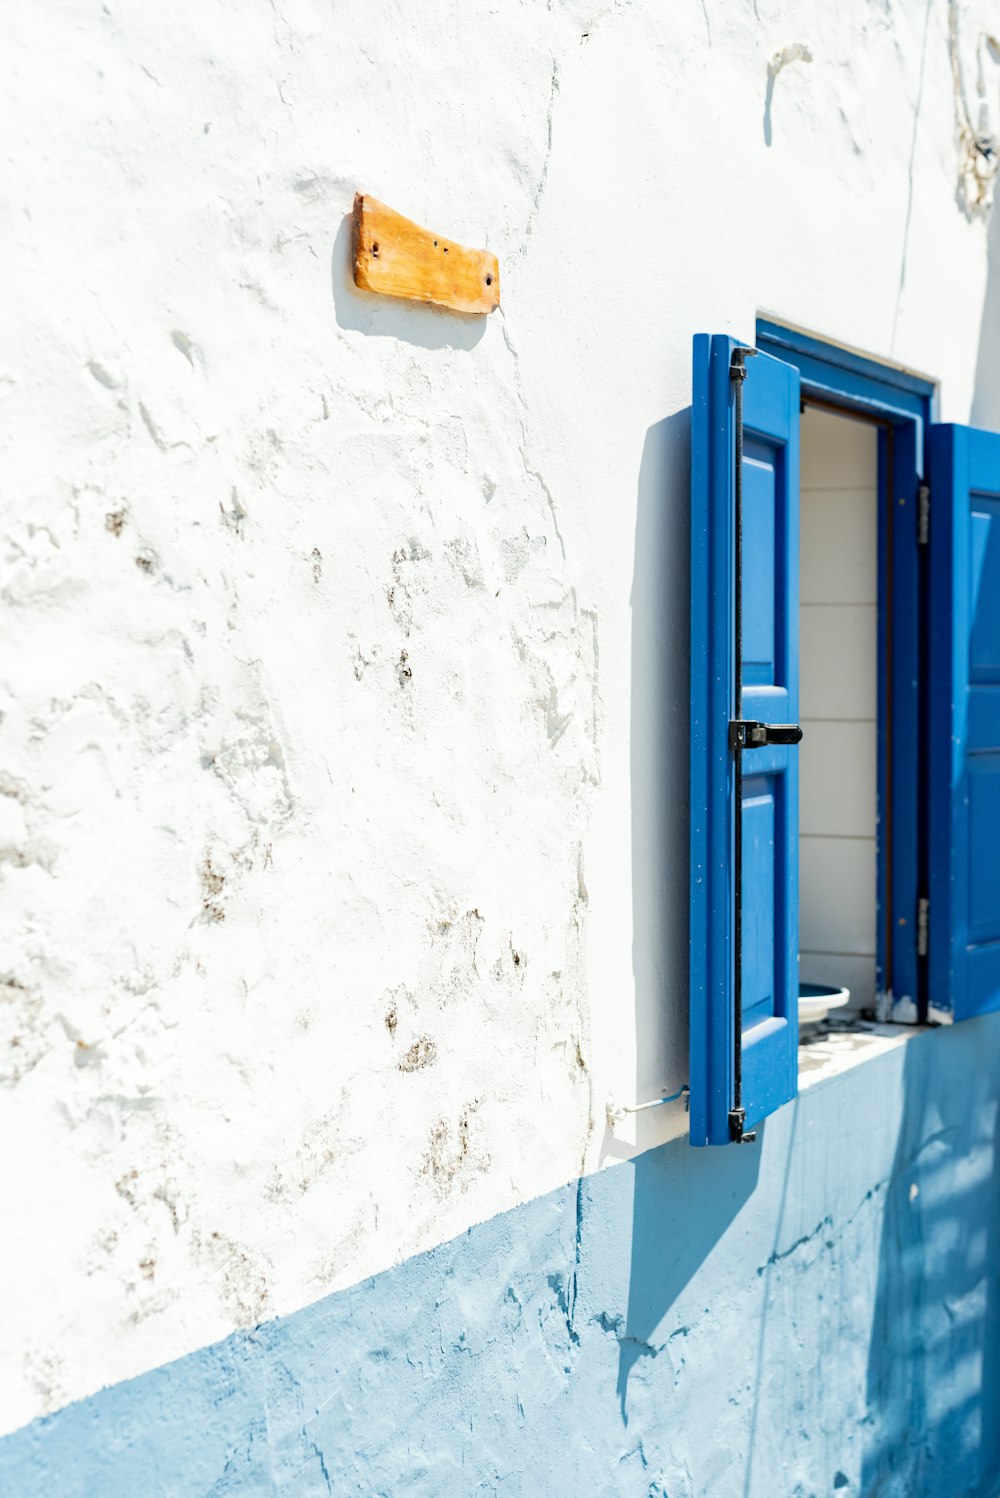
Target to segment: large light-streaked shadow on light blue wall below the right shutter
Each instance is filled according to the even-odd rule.
[[[969,1020],[957,1029],[991,1020]],[[963,1037],[967,1040],[969,1037]],[[868,1344],[862,1494],[1000,1491],[1000,1109],[996,1073],[942,1086],[942,1046],[906,1047]],[[984,1044],[982,1055],[990,1055]],[[942,1488],[948,1456],[948,1486]]]

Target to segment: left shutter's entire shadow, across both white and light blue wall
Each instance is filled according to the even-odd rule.
[[[632,572],[632,969],[636,1098],[687,1082],[690,745],[690,407],[650,427],[642,445]],[[638,1144],[653,1129],[639,1115]],[[633,1162],[632,1260],[617,1393],[657,1356],[656,1330],[714,1243],[753,1195],[760,1150],[648,1150]],[[681,1189],[678,1191],[678,1185]],[[665,1203],[681,1206],[665,1234]],[[684,1327],[672,1338],[683,1338]]]

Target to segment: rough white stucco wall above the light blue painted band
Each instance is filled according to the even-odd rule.
[[[692,334],[766,310],[1000,410],[945,0],[3,30],[10,1429],[686,1080]],[[356,189],[490,246],[503,310],[355,292]]]

